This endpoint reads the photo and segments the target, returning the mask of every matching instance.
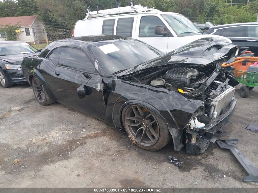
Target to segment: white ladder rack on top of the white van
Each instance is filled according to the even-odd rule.
[[[141,5],[132,5],[132,6],[126,6],[126,7],[117,7],[113,9],[104,9],[104,10],[98,10],[97,11],[90,11],[89,7],[87,9],[87,14],[84,20],[93,18],[93,17],[103,17],[108,16],[112,14],[121,14],[121,13],[142,13],[142,12],[149,12],[149,11],[159,11],[157,9],[148,9],[147,7],[143,7]]]

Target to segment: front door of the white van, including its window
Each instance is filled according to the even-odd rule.
[[[168,38],[173,37],[169,31],[169,26],[165,24],[165,20],[159,15],[143,14],[139,15],[136,23],[135,39],[143,41],[161,52],[167,53]],[[155,34],[155,27],[161,25],[166,35]]]

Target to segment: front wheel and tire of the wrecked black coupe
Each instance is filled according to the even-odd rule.
[[[141,113],[139,113],[139,108]],[[141,116],[142,113],[143,116]],[[162,118],[142,105],[125,106],[122,111],[122,122],[129,138],[140,148],[156,151],[163,148],[172,139]]]

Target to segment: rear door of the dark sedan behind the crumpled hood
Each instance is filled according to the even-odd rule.
[[[220,35],[231,39],[234,45],[246,47],[245,26],[226,27]]]

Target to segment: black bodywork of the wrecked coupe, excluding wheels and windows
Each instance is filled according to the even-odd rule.
[[[216,96],[226,93],[226,91],[234,93],[233,87],[228,85],[229,81],[234,80],[230,74],[219,67],[218,63],[231,58],[236,52],[235,46],[225,43],[220,38],[202,38],[177,51],[161,55],[120,73],[106,74],[102,64],[100,65],[91,53],[91,48],[127,39],[130,38],[90,36],[56,41],[48,45],[40,55],[25,57],[22,63],[23,72],[30,84],[33,76],[38,77],[53,100],[103,120],[119,129],[124,127],[122,111],[126,105],[144,106],[160,116],[166,123],[176,151],[179,151],[186,143],[188,153],[204,152],[210,142],[216,141],[215,138],[222,132],[223,125],[229,120],[236,104],[234,97],[230,96],[230,104],[227,104],[227,109],[223,108],[220,112],[214,110],[214,113],[212,111],[214,117],[209,117],[209,113],[206,115],[207,112],[211,112],[208,103],[212,100],[212,95]],[[90,78],[87,78],[83,76],[83,71],[51,63],[48,55],[59,47],[82,49],[89,56],[97,73],[89,73]],[[183,88],[186,89],[184,93],[180,93],[177,89],[170,89],[171,86],[167,85],[172,85],[172,83],[163,87],[153,86],[150,83],[151,80],[162,76],[165,71],[175,67],[179,67],[179,70],[184,67],[196,68],[197,70],[192,70],[193,72],[202,71],[204,68],[203,72],[198,72],[204,77],[192,76],[192,78],[196,78],[196,81],[191,80],[191,84],[196,88],[194,86],[187,88],[186,83],[179,81],[178,84],[177,82],[176,86],[178,87],[176,88],[180,88],[181,84],[184,85]],[[55,74],[57,71],[58,75]],[[204,75],[205,73],[206,75]],[[171,78],[173,79],[173,77]],[[202,79],[203,81],[201,81]],[[220,79],[221,82],[218,81]],[[76,91],[80,86],[85,88],[87,93],[82,98],[78,97]],[[227,96],[225,94],[224,98]],[[215,113],[218,113],[217,117],[215,117]],[[192,127],[189,121],[195,117],[200,119],[199,121],[204,119],[205,127]],[[192,136],[196,138],[195,142],[191,140]]]

